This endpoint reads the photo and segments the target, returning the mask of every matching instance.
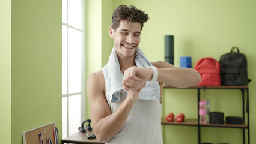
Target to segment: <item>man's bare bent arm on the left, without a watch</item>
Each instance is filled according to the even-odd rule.
[[[126,99],[111,113],[105,97],[105,82],[102,71],[90,74],[87,82],[90,118],[98,140],[108,143],[123,127],[140,90],[129,91]]]

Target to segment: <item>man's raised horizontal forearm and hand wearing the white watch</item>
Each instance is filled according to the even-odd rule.
[[[158,82],[168,83],[177,88],[187,88],[201,82],[200,74],[192,68],[176,68],[174,65],[163,61],[153,62],[152,64],[157,67],[159,73]],[[144,80],[150,80],[153,76],[153,70],[151,68],[131,67],[127,70],[129,69],[133,70],[133,72],[130,72],[130,79],[123,80],[123,88],[127,91],[136,88],[138,85],[143,85]],[[142,81],[139,81],[139,83],[136,82],[134,79],[137,78]]]

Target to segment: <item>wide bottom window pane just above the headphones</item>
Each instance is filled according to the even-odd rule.
[[[81,127],[81,95],[69,97],[69,136]]]

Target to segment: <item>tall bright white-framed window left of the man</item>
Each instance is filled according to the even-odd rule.
[[[85,0],[62,0],[62,138],[85,120]]]

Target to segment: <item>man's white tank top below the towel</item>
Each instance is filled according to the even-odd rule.
[[[126,95],[121,94],[120,101],[108,104],[111,113],[118,109]],[[112,137],[108,144],[162,144],[161,108],[159,100],[137,100],[120,132]]]

